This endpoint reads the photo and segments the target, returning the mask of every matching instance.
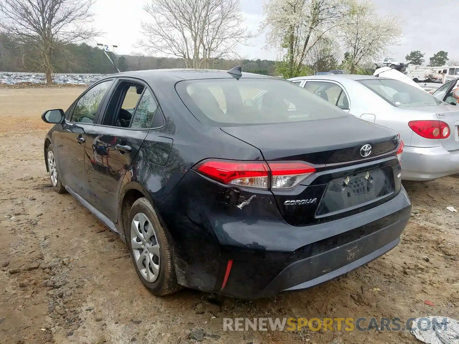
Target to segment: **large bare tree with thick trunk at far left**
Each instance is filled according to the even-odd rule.
[[[38,70],[52,83],[53,54],[68,43],[100,35],[88,27],[94,0],[0,0],[0,28],[36,53]]]

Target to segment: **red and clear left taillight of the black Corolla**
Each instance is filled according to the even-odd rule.
[[[257,189],[291,189],[315,168],[302,161],[232,161],[209,159],[193,169],[220,183]]]

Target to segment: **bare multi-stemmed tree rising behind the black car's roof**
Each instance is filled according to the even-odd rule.
[[[212,60],[235,58],[238,45],[250,45],[254,34],[244,22],[239,0],[151,0],[144,10],[152,22],[142,22],[150,53],[184,59],[187,68],[209,68]]]

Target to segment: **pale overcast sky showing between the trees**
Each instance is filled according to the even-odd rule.
[[[98,40],[103,44],[117,44],[118,54],[136,51],[132,44],[140,35],[140,21],[149,17],[142,7],[148,0],[97,0],[93,25],[105,31]],[[245,25],[257,31],[263,19],[263,4],[267,0],[241,0],[241,9],[246,17]],[[425,61],[439,50],[448,51],[448,57],[459,60],[459,5],[457,0],[374,0],[381,14],[392,11],[403,21],[405,36],[400,45],[390,47],[388,56],[405,61],[411,50],[425,53]],[[276,52],[263,48],[264,37],[252,40],[253,46],[241,46],[241,55],[252,59],[274,60]]]

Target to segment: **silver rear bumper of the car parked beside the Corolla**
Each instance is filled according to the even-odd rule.
[[[403,180],[434,180],[459,173],[459,150],[405,146],[402,154]]]

